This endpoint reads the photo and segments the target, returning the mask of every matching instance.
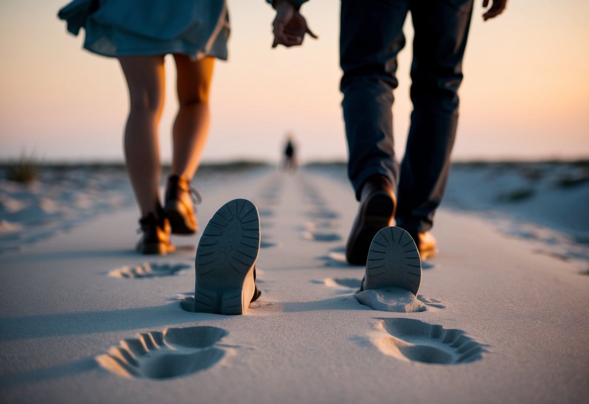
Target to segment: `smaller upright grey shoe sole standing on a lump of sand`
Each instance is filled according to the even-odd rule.
[[[402,287],[417,295],[421,259],[415,241],[401,227],[380,230],[368,251],[364,289]]]

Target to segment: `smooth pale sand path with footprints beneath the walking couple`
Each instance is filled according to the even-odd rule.
[[[363,268],[343,260],[356,202],[340,174],[268,171],[199,188],[203,228],[232,198],[259,207],[263,294],[244,316],[183,310],[194,269],[181,268],[193,266],[198,236],[176,237],[170,256],[138,256],[134,207],[5,251],[0,401],[587,399],[589,276],[579,273],[587,261],[538,254],[550,237],[583,246],[544,227],[534,226],[540,238],[514,236],[494,216],[441,209],[441,253],[424,264],[419,289],[426,310],[372,310],[354,298]]]

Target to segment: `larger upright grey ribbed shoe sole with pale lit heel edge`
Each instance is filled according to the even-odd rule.
[[[260,250],[260,216],[254,204],[235,199],[211,218],[196,250],[194,311],[243,314],[254,294]]]

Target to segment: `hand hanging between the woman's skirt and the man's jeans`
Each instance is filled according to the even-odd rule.
[[[276,2],[276,18],[272,22],[272,27],[274,32],[273,48],[278,45],[285,47],[301,45],[305,34],[317,39],[317,35],[307,27],[305,17],[296,11],[288,1]]]

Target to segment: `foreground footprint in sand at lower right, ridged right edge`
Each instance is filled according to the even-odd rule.
[[[419,320],[380,319],[378,330],[370,341],[384,355],[406,362],[458,365],[480,360],[487,352],[462,330]]]

